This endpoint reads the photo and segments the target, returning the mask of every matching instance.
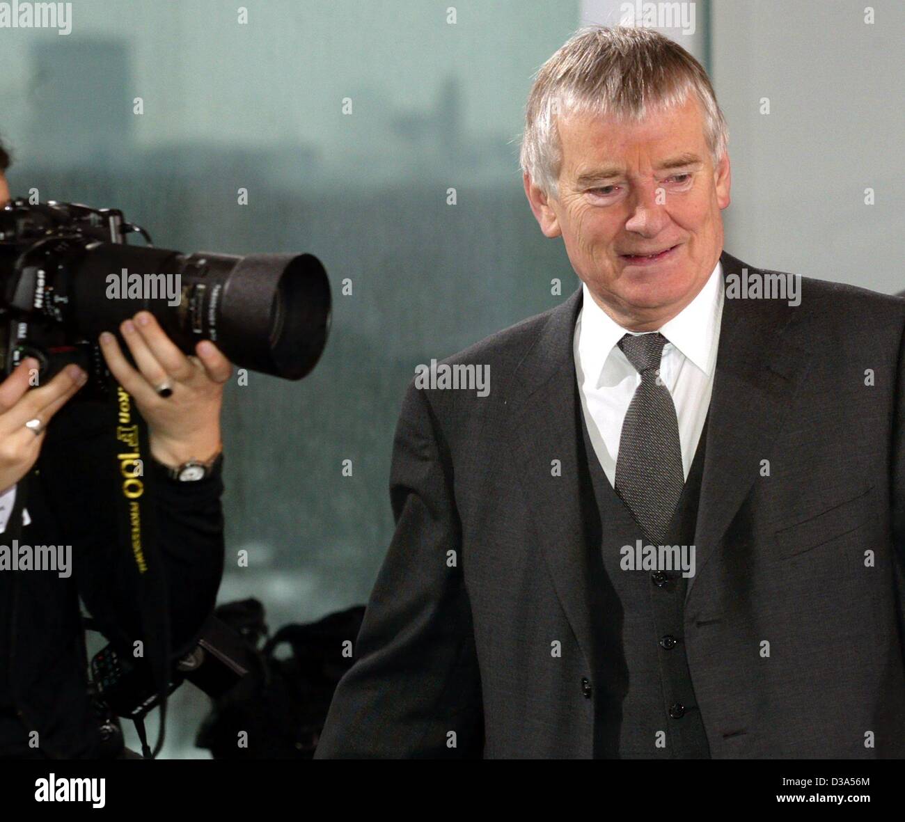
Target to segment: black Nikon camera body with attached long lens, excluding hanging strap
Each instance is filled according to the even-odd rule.
[[[132,233],[148,245],[126,244]],[[241,368],[300,379],[327,341],[330,288],[312,254],[184,254],[153,247],[115,208],[15,199],[0,209],[6,373],[32,356],[43,383],[76,362],[90,375],[81,396],[106,393],[98,335],[141,309],[186,353],[211,339]]]

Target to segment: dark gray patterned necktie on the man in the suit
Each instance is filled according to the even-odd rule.
[[[676,406],[669,388],[659,381],[667,341],[659,332],[626,334],[619,340],[619,348],[641,374],[641,382],[619,437],[615,490],[647,539],[658,545],[666,536],[685,484]]]

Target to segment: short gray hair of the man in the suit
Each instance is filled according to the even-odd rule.
[[[714,165],[729,131],[700,62],[661,33],[601,25],[579,29],[538,71],[525,110],[519,164],[548,196],[558,196],[562,146],[557,113],[643,119],[681,105],[694,91]]]

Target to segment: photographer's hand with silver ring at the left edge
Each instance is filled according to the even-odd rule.
[[[46,386],[29,391],[38,361],[26,357],[0,383],[0,490],[18,483],[41,454],[47,424],[86,381],[85,372],[70,365]],[[37,420],[33,427],[25,423]]]

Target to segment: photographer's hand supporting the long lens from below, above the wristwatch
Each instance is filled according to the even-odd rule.
[[[176,467],[188,460],[207,460],[217,454],[220,409],[230,361],[210,340],[195,346],[196,357],[186,357],[149,311],[138,311],[119,326],[138,369],[123,356],[116,337],[100,335],[100,349],[110,373],[135,399],[148,423],[151,454]],[[160,386],[172,393],[162,397]]]

